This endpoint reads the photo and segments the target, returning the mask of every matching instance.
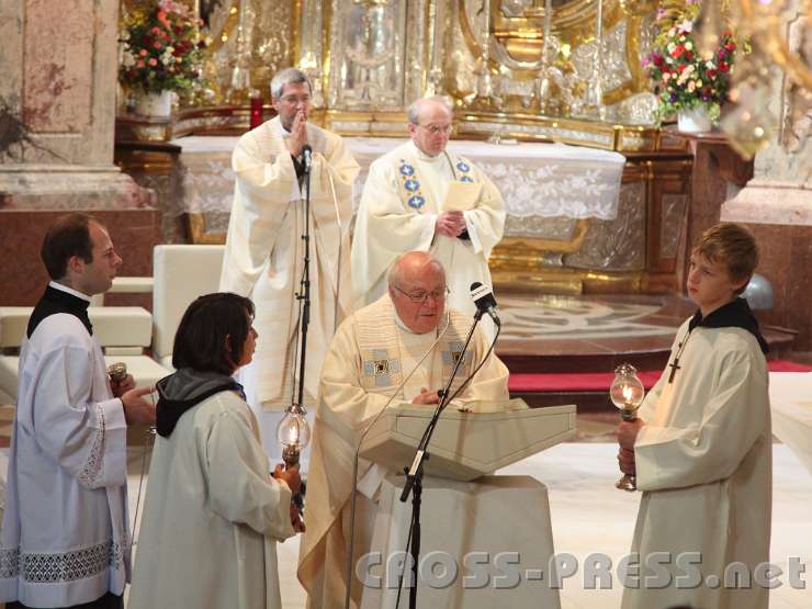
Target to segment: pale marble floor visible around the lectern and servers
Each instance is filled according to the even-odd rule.
[[[579,417],[580,419],[580,417]],[[580,420],[579,420],[580,425]],[[602,427],[593,422],[595,431]],[[579,561],[593,552],[618,559],[631,543],[640,496],[617,490],[617,448],[610,442],[568,442],[553,447],[500,471],[529,475],[546,485],[556,553],[569,553]],[[143,452],[131,449],[131,517],[140,481]],[[788,584],[770,593],[770,609],[812,607],[812,474],[783,444],[774,446],[774,506],[770,561],[787,567],[790,556],[809,565],[803,576],[807,589]],[[137,545],[136,545],[137,551]],[[279,576],[283,607],[305,606],[305,593],[295,575],[298,539],[279,544]],[[561,593],[563,609],[610,609],[620,607],[622,590],[585,589],[579,576],[567,579]]]

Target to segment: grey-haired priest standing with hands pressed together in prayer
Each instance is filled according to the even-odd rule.
[[[273,429],[291,402],[304,241],[304,155],[311,169],[311,325],[305,402],[315,402],[330,338],[349,313],[349,225],[359,166],[338,135],[307,121],[312,88],[295,68],[271,80],[279,115],[245,134],[232,157],[237,174],[219,289],[250,296],[259,331],[253,362],[240,371],[248,402],[260,419],[266,449],[277,451]],[[269,411],[270,410],[270,411]]]

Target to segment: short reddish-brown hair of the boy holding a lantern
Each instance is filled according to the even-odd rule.
[[[722,222],[711,226],[697,239],[691,253],[703,256],[712,263],[723,264],[733,281],[748,280],[758,266],[758,246],[744,226]],[[744,292],[745,283],[736,291]]]

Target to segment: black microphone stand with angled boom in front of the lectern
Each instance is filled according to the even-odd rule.
[[[451,383],[453,383],[454,376],[456,376],[456,372],[460,370],[460,364],[462,364],[462,360],[465,358],[465,351],[467,351],[471,337],[474,335],[474,330],[476,329],[476,325],[480,323],[483,313],[483,311],[477,311],[474,315],[474,323],[471,325],[469,335],[465,338],[465,343],[462,347],[460,358],[454,364],[454,370],[451,372],[451,376],[446,384],[446,388],[441,390],[442,396],[435,409],[431,420],[428,426],[426,426],[420,443],[417,447],[415,459],[411,462],[411,467],[403,469],[406,474],[406,483],[403,486],[403,493],[401,493],[401,501],[406,501],[409,498],[409,493],[414,489],[414,494],[411,496],[411,525],[409,526],[409,539],[411,540],[411,589],[409,590],[409,609],[417,608],[417,566],[418,559],[420,556],[420,507],[422,505],[422,462],[429,458],[429,453],[426,451],[431,441],[431,436],[435,433],[435,428],[437,427],[437,422],[440,420],[440,415],[451,402]]]

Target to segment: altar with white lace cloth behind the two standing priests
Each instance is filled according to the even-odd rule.
[[[173,170],[176,185],[159,200],[166,216],[188,218],[193,243],[225,240],[235,179],[230,157],[237,140],[234,136],[189,136],[169,142],[179,149]],[[370,163],[403,140],[346,137],[361,166],[353,191],[356,208]],[[590,248],[594,252],[612,249],[612,263],[619,263],[619,269],[642,270],[644,260],[640,253],[645,249],[642,243],[613,248],[606,239],[614,230],[594,229],[591,236],[587,235],[589,221],[627,223],[631,216],[640,224],[643,217],[636,210],[642,203],[639,198],[625,201],[621,198],[627,160],[620,153],[562,143],[494,144],[463,139],[451,140],[448,150],[481,167],[505,200],[505,238],[492,258],[495,281],[499,282],[501,270],[511,269],[512,256],[507,248],[521,250],[526,257],[530,252],[535,257],[534,266],[557,270],[591,269],[595,253],[588,253]],[[642,226],[633,228],[638,238],[644,239]],[[630,258],[629,251],[634,251],[634,256]],[[580,289],[578,285],[566,291]]]

